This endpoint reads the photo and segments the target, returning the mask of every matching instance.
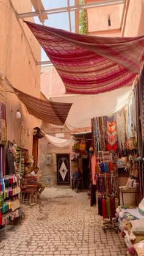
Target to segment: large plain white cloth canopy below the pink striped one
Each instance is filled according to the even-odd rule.
[[[84,128],[92,125],[91,119],[112,115],[123,108],[131,98],[132,87],[123,87],[96,95],[73,95],[52,97],[51,101],[73,103],[65,125],[68,129]]]

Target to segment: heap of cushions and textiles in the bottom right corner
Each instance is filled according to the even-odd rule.
[[[138,208],[118,207],[116,218],[128,255],[144,256],[144,198]]]

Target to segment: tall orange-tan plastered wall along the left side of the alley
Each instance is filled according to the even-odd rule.
[[[18,13],[32,10],[30,0],[13,0],[12,3]],[[1,73],[17,89],[40,98],[40,67],[35,63],[35,60],[40,60],[40,45],[29,27],[22,20],[16,19],[9,0],[0,2],[0,27]],[[6,90],[12,90],[3,81],[1,90],[4,90],[4,86]],[[6,106],[7,139],[29,149],[32,154],[32,130],[35,126],[41,126],[41,121],[28,114],[14,93],[1,92],[0,100]],[[15,118],[17,109],[21,112],[20,120]]]

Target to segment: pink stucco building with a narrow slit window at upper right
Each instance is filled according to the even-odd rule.
[[[85,0],[85,3],[102,0]],[[104,1],[103,1],[104,2]],[[133,37],[144,34],[144,0],[126,0],[124,19],[121,26],[123,5],[111,5],[87,9],[88,34],[106,37]],[[107,25],[107,15],[110,14],[112,26]]]

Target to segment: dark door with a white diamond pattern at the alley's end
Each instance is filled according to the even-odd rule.
[[[57,154],[57,185],[70,185],[70,155]]]

